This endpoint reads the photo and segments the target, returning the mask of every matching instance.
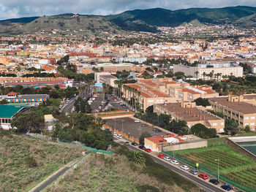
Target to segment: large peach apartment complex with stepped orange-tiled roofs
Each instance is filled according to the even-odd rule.
[[[194,101],[199,97],[219,96],[211,86],[190,86],[187,82],[175,82],[172,78],[157,78],[138,80],[137,83],[125,84],[140,92],[140,105],[143,110],[152,104],[170,103],[176,101]],[[130,100],[137,96],[132,90],[122,88],[124,98]]]

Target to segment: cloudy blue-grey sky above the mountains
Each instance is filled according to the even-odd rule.
[[[1,0],[0,19],[62,13],[110,15],[132,9],[191,7],[256,7],[256,0]]]

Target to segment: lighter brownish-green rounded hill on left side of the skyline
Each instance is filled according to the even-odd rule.
[[[32,20],[29,22],[29,20]],[[27,22],[28,21],[28,22]],[[19,23],[25,22],[25,23]],[[86,34],[99,34],[103,31],[123,33],[120,27],[105,18],[94,15],[54,15],[41,18],[12,19],[0,22],[0,33],[31,33],[40,30],[82,30]]]

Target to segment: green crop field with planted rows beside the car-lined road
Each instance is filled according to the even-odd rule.
[[[173,155],[172,152],[167,152]],[[191,166],[199,164],[198,169],[217,176],[218,160],[220,178],[227,182],[254,188],[256,191],[256,162],[236,152],[227,145],[180,150],[175,153],[176,158]],[[217,160],[217,161],[215,161]],[[244,189],[246,189],[244,188]],[[252,191],[250,189],[249,191]]]

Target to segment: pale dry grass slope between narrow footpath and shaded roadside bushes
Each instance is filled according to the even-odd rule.
[[[78,170],[67,174],[64,180],[58,185],[51,186],[47,191],[184,191],[174,182],[173,177],[176,175],[172,175],[171,172],[165,174],[161,169],[157,171],[167,182],[147,174],[142,167],[132,164],[123,155],[89,154],[78,166]],[[189,187],[186,191],[200,191],[193,184]]]

